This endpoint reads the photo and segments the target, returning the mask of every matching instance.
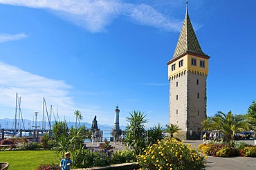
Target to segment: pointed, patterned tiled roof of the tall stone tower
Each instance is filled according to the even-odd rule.
[[[194,32],[194,29],[192,27],[192,23],[190,21],[190,17],[188,15],[188,1],[187,1],[186,2],[185,19],[183,21],[183,26],[181,28],[181,33],[179,35],[179,40],[178,40],[178,43],[176,45],[176,48],[175,48],[174,55],[173,55],[172,59],[175,59],[176,57],[179,57],[180,55],[183,55],[184,53],[189,53],[189,52],[207,56],[201,50],[201,47],[199,45],[199,41],[196,38],[196,34]]]

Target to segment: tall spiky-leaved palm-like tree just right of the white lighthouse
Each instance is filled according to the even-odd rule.
[[[129,147],[134,149],[136,154],[139,154],[146,146],[146,129],[144,124],[147,123],[144,113],[140,111],[134,111],[129,113],[130,117],[127,117],[127,135],[125,142]]]

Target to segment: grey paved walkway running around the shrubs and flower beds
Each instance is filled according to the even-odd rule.
[[[253,140],[244,140],[248,144],[254,144]],[[185,143],[189,143],[195,149],[199,144],[202,143],[201,140],[186,140]],[[115,142],[110,142],[111,146],[114,147],[114,151],[124,150],[126,147],[124,145],[118,144]],[[86,147],[93,148],[97,147],[97,144],[91,144],[91,142],[86,142]],[[234,157],[234,158],[217,158],[208,156],[205,170],[256,170],[256,158],[250,157]]]

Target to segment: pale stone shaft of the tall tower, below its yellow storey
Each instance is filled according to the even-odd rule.
[[[170,79],[169,123],[181,129],[176,138],[200,139],[206,117],[206,78],[189,70]]]

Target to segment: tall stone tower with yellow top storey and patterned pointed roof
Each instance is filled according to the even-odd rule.
[[[181,139],[199,139],[201,122],[206,117],[206,79],[208,59],[188,16],[188,3],[183,27],[168,65],[170,81],[169,124],[179,126]]]

